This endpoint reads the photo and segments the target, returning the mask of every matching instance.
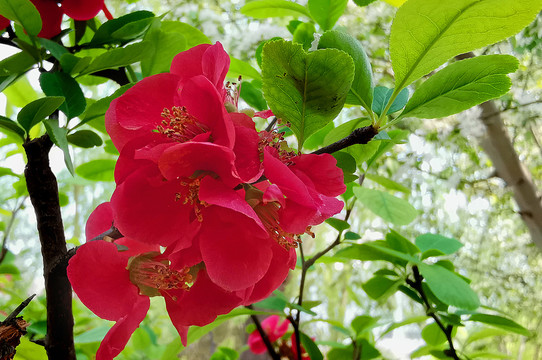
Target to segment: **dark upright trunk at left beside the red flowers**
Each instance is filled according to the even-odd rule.
[[[48,135],[27,141],[25,177],[34,206],[43,257],[47,296],[45,350],[49,359],[75,360],[72,289],[66,273],[66,240],[58,200],[58,184],[49,167],[53,142]],[[62,263],[63,266],[58,266]]]

